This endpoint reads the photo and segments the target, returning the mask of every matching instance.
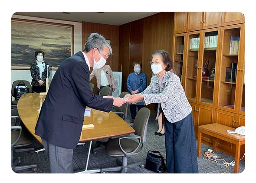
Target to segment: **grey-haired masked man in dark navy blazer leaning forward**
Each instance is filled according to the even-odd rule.
[[[125,101],[113,96],[94,95],[89,85],[90,66],[102,67],[112,54],[106,39],[92,33],[83,52],[66,59],[56,71],[36,124],[49,155],[51,173],[72,173],[73,149],[82,131],[85,107],[109,112]]]

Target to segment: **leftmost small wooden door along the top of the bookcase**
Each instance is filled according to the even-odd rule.
[[[187,12],[174,13],[174,34],[187,32]]]

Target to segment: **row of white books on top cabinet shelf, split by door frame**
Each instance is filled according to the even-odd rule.
[[[217,48],[218,36],[206,36],[204,37],[204,48]],[[190,39],[190,49],[199,49],[200,38]]]

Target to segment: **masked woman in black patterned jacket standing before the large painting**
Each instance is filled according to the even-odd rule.
[[[30,74],[32,76],[32,92],[46,92],[46,78],[49,78],[49,65],[44,62],[44,52],[35,52],[36,60],[31,63]]]

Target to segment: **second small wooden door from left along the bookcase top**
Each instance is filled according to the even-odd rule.
[[[188,12],[187,32],[203,29],[203,12]]]

